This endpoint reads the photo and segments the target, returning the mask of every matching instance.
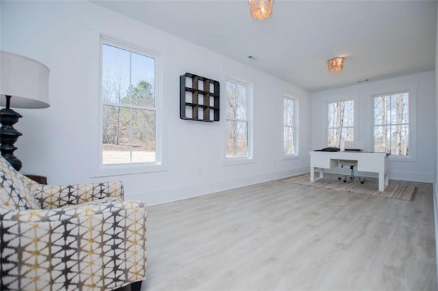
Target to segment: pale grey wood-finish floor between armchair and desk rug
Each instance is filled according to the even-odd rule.
[[[142,290],[436,290],[431,184],[413,202],[271,181],[149,207]]]

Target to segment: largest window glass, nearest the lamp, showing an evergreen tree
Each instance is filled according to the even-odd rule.
[[[157,56],[101,42],[101,165],[157,163]]]

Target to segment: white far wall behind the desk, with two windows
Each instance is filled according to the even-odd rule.
[[[435,124],[435,72],[422,72],[404,77],[363,83],[350,87],[327,90],[311,95],[313,150],[326,146],[326,102],[336,100],[355,100],[355,140],[365,142],[365,150],[373,150],[373,100],[374,94],[385,94],[398,90],[411,89],[410,96],[415,97],[411,120],[411,135],[414,143],[410,144],[413,154],[411,161],[394,161],[389,159],[389,178],[433,182],[436,161]],[[412,94],[414,93],[414,94]],[[413,122],[416,120],[416,122]],[[348,171],[348,170],[347,170]],[[339,172],[339,171],[337,171]],[[367,173],[365,173],[367,175]],[[372,175],[370,175],[372,176]]]

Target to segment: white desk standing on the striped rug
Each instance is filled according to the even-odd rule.
[[[357,161],[358,171],[378,173],[378,191],[383,192],[388,186],[388,156],[385,152],[310,152],[310,181],[315,182],[315,168],[322,178],[324,169],[339,167],[339,160],[351,160]]]

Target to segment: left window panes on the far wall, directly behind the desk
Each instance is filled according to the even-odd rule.
[[[344,150],[345,141],[354,141],[355,102],[353,100],[328,104],[327,145]]]

